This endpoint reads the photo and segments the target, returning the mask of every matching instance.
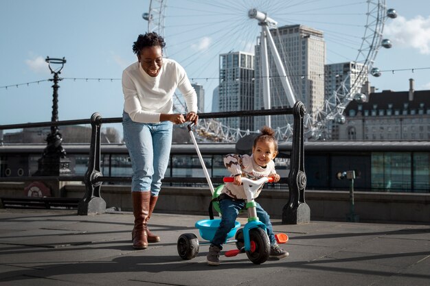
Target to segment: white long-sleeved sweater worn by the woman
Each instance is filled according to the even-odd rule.
[[[180,64],[163,58],[159,74],[152,78],[139,62],[135,62],[122,72],[124,111],[135,122],[159,123],[161,113],[172,113],[177,88],[185,99],[188,112],[197,112],[196,91]]]

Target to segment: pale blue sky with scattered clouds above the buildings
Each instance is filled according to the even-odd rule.
[[[165,36],[165,56],[182,64],[192,82],[203,85],[204,111],[211,112],[219,53],[252,51],[256,43],[260,27],[247,18],[252,7],[267,9],[279,25],[322,30],[326,63],[357,57],[366,1],[258,2],[168,0],[164,29],[159,30],[142,18],[149,12],[149,0],[1,0],[0,125],[51,120],[47,56],[67,61],[60,73],[59,120],[88,119],[93,112],[121,117],[122,71],[137,60],[132,51],[137,35],[150,28]],[[409,78],[414,78],[416,90],[430,90],[430,1],[386,3],[398,13],[385,21],[383,31],[393,47],[378,50],[374,67],[383,74],[371,77],[371,85],[377,91],[407,91]],[[157,23],[157,14],[153,17],[152,23]],[[56,70],[58,64],[52,67]]]

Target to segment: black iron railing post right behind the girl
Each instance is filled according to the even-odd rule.
[[[294,130],[291,146],[290,173],[288,174],[289,198],[282,209],[282,224],[310,222],[310,208],[304,201],[306,173],[304,171],[304,124],[306,108],[302,102],[293,106]]]

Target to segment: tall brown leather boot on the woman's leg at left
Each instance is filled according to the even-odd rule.
[[[146,233],[146,221],[148,220],[150,192],[132,191],[133,215],[135,215],[135,227],[133,228],[133,248],[148,248],[148,233]]]

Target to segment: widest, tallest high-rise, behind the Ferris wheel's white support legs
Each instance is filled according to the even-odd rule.
[[[324,104],[324,64],[326,62],[326,43],[321,31],[304,25],[286,25],[271,29],[271,35],[282,64],[286,69],[295,98],[304,103],[306,111],[315,114]],[[270,69],[271,107],[287,107],[286,92],[276,71],[275,62],[268,48]],[[264,108],[262,96],[262,71],[260,69],[260,43],[256,45],[256,99],[255,109]],[[292,107],[292,106],[290,106]],[[291,118],[272,116],[271,127],[286,126]],[[264,124],[263,117],[256,117],[256,129]],[[292,123],[292,122],[291,122]]]

